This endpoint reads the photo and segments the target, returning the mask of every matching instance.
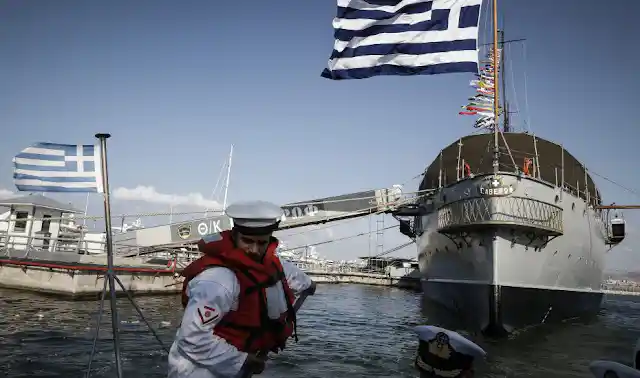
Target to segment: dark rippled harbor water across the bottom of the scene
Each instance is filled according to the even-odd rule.
[[[361,285],[321,285],[299,315],[297,344],[270,359],[261,377],[416,377],[412,327],[428,324],[420,294]],[[125,377],[165,377],[166,355],[127,299],[119,299]],[[177,296],[136,303],[169,346],[182,308]],[[97,302],[0,290],[0,376],[86,374]],[[589,377],[594,359],[630,363],[640,336],[640,298],[605,299],[597,320],[542,327],[506,340],[473,337],[488,351],[480,377]],[[114,377],[108,303],[92,377]]]

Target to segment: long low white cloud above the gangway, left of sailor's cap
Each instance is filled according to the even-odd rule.
[[[188,193],[186,195],[160,193],[153,186],[138,185],[133,189],[116,188],[113,197],[125,201],[144,201],[149,203],[162,203],[167,205],[196,206],[212,210],[222,209],[217,201],[204,198],[200,193]]]

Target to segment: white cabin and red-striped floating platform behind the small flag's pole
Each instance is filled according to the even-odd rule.
[[[0,200],[0,286],[86,299],[103,290],[107,271],[106,234],[76,223],[81,213],[69,204],[31,194]],[[6,211],[4,211],[6,209]],[[134,223],[131,228],[141,226]],[[136,246],[114,247],[114,269],[132,293],[175,293],[171,257],[122,257]]]

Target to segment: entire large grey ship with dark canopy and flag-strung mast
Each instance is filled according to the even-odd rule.
[[[561,142],[511,130],[498,96],[505,41],[496,3],[493,43],[460,112],[477,117],[476,130],[437,153],[419,185],[428,195],[395,214],[416,241],[425,311],[507,335],[597,314],[605,253],[626,231]]]

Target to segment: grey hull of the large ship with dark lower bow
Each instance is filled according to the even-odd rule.
[[[443,233],[439,211],[446,206],[436,203],[417,225],[423,309],[432,322],[499,334],[599,311],[605,253],[599,215],[580,198],[560,194],[553,186],[505,178],[509,180],[515,188],[511,196],[533,198],[562,210],[562,234],[534,238],[531,229],[523,231],[497,221],[490,227],[467,228],[457,236]],[[476,181],[451,185],[439,196],[469,195]],[[507,196],[500,198],[483,198],[486,211],[510,211]],[[481,218],[472,213],[465,217]]]

